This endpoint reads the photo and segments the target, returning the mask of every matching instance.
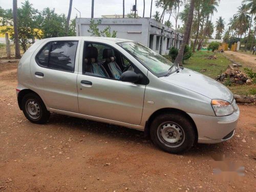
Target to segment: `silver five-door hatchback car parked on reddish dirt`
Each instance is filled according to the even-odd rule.
[[[230,139],[239,118],[221,83],[119,38],[36,41],[20,59],[16,93],[33,123],[53,112],[130,127],[170,153]]]

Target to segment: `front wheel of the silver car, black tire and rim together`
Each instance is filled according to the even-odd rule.
[[[152,121],[150,136],[153,143],[163,151],[179,154],[188,151],[194,144],[195,128],[194,123],[182,113],[161,114]],[[181,139],[174,143],[178,138]]]

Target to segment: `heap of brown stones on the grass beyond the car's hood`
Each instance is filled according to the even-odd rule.
[[[218,75],[215,80],[226,82],[229,80],[233,84],[252,84],[252,80],[246,74],[238,70],[227,69],[225,73]]]

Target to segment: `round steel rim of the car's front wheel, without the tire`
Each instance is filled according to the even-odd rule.
[[[157,137],[167,147],[179,147],[185,141],[185,132],[179,124],[169,121],[158,126]]]

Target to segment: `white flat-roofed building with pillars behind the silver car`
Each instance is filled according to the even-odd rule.
[[[111,31],[117,31],[118,38],[131,39],[151,48],[162,55],[168,54],[168,49],[180,48],[183,34],[156,22],[151,18],[93,18],[101,19],[99,30],[110,26]],[[91,18],[76,18],[76,35],[91,36],[88,32]],[[96,21],[95,21],[96,22]],[[176,43],[175,43],[175,36]]]

